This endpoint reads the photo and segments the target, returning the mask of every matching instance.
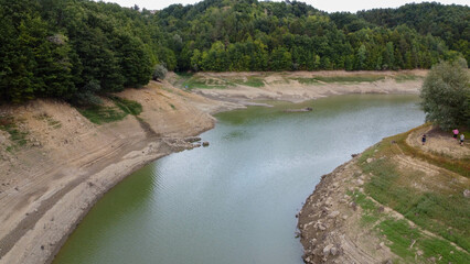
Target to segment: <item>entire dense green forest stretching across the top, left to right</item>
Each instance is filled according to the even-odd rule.
[[[470,8],[325,13],[302,2],[205,0],[150,12],[89,0],[0,0],[0,100],[77,103],[169,70],[430,68],[469,55]]]

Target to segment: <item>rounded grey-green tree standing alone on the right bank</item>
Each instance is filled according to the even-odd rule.
[[[445,130],[470,125],[470,75],[467,62],[445,62],[432,67],[426,77],[420,97],[426,120]]]

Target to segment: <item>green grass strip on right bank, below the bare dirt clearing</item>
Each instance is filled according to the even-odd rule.
[[[409,186],[413,175],[398,172],[387,160],[373,162],[363,169],[374,175],[365,185],[365,191],[371,197],[419,227],[470,250],[470,205],[461,194],[449,196],[438,190],[418,191]],[[404,184],[407,180],[409,183]],[[452,231],[449,232],[449,228]]]

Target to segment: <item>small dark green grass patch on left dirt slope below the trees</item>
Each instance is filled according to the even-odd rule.
[[[109,123],[122,120],[127,113],[117,107],[93,106],[78,111],[90,122],[96,124]]]

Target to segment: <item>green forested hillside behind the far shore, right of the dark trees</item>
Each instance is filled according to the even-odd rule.
[[[415,10],[423,15],[421,7],[427,6],[407,9],[407,15]],[[459,8],[468,12],[467,7]],[[448,10],[449,15],[464,13]],[[468,53],[468,26],[452,29],[456,37],[446,45],[405,20],[381,26],[380,22],[368,22],[368,16],[328,14],[297,1],[205,0],[194,6],[171,6],[157,18],[172,43],[180,70],[429,68],[439,59]],[[446,20],[445,26],[452,23]]]

